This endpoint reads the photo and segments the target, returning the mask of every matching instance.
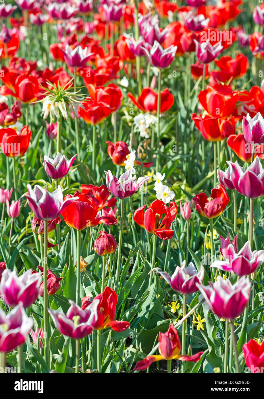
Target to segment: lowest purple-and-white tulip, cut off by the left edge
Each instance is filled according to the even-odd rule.
[[[29,318],[21,304],[11,312],[0,309],[0,352],[11,352],[17,346],[24,344],[34,320]]]

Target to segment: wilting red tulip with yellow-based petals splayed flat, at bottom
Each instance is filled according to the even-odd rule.
[[[159,353],[160,355],[147,356],[144,360],[138,361],[134,370],[145,370],[153,361],[179,359],[181,361],[198,361],[203,352],[193,356],[181,355],[181,341],[176,328],[170,324],[168,331],[163,334],[159,332]]]

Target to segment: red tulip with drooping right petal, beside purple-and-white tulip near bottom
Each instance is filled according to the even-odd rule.
[[[111,327],[114,331],[125,331],[130,327],[128,322],[115,320],[115,308],[117,305],[117,294],[110,288],[105,287],[103,292],[90,302],[90,297],[85,296],[81,300],[81,308],[85,309],[93,302],[98,302],[97,307],[97,320],[93,323],[95,330],[103,330],[104,328]]]

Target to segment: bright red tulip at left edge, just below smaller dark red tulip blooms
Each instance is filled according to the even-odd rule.
[[[24,126],[20,134],[12,128],[0,129],[0,146],[6,156],[23,156],[28,150],[30,138],[28,126]]]

